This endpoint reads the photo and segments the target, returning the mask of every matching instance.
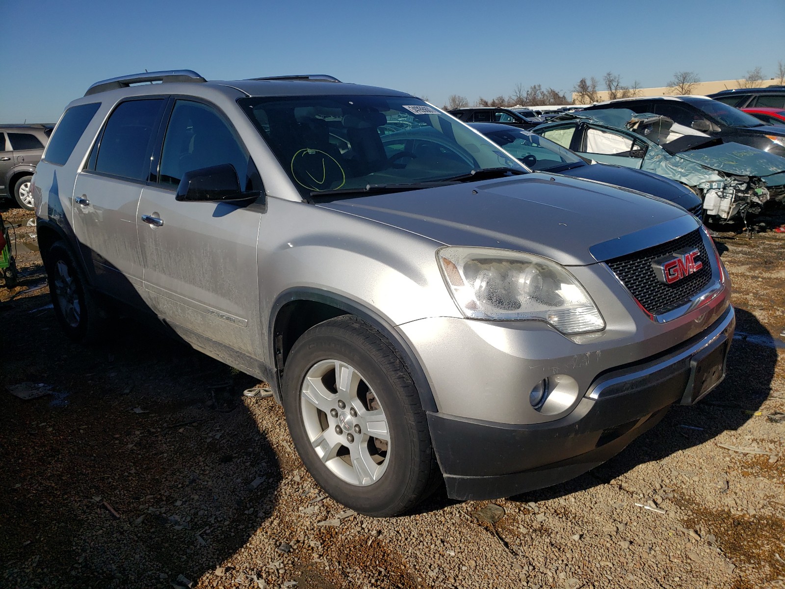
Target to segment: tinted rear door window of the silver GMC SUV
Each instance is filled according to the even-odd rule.
[[[152,141],[165,104],[162,98],[119,104],[104,127],[95,171],[146,181],[150,173]]]

